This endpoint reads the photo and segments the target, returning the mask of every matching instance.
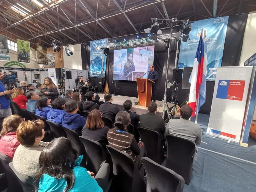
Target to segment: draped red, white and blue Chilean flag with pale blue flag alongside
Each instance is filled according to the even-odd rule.
[[[202,37],[203,33],[204,31],[202,31],[200,36],[193,70],[189,78],[189,83],[191,85],[190,85],[188,106],[190,106],[193,110],[192,116],[195,116],[196,100],[198,99],[198,102],[199,102],[198,111],[205,102],[207,54],[206,54],[206,46],[204,46],[204,40]]]

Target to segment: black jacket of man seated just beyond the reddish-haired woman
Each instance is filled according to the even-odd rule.
[[[113,105],[109,101],[105,101],[100,105],[100,112],[102,116],[110,118],[113,122],[115,122],[116,114],[119,112],[119,109],[116,105]]]

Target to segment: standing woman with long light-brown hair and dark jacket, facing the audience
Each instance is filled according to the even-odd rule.
[[[39,96],[47,97],[48,99],[52,100],[51,102],[59,97],[57,86],[52,82],[50,77],[46,77],[44,79],[44,84],[41,86]]]

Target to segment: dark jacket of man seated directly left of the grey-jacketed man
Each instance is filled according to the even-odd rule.
[[[140,126],[143,128],[151,129],[153,131],[157,131],[161,139],[164,139],[164,119],[156,116],[155,113],[148,112],[146,114],[140,115]]]

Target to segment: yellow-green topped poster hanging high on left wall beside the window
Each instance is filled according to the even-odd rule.
[[[30,63],[30,42],[17,39],[18,62]]]

